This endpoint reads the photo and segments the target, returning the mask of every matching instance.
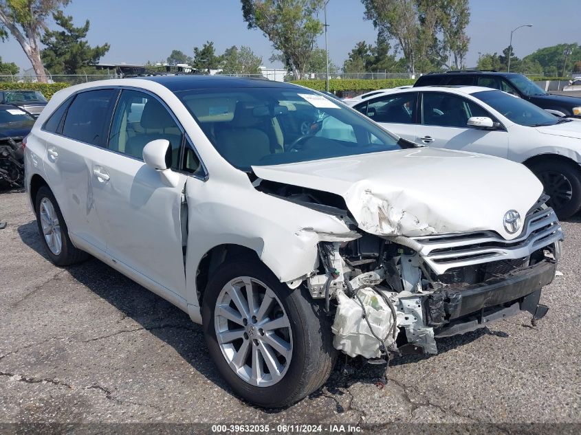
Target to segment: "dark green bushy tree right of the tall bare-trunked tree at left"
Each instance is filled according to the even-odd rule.
[[[109,51],[109,44],[91,47],[85,38],[89,32],[89,20],[82,27],[73,25],[73,17],[59,10],[53,14],[54,22],[61,30],[45,32],[41,42],[45,49],[41,58],[52,74],[87,72]]]

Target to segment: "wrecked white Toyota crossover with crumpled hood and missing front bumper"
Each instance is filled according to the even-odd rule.
[[[538,320],[560,256],[525,166],[417,146],[285,83],[70,87],[25,165],[52,261],[91,254],[186,311],[234,391],[267,407],[319,388],[339,352],[382,363]]]

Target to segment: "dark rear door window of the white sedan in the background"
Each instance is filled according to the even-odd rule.
[[[384,96],[370,101],[362,113],[375,122],[413,124],[416,101],[416,92]]]

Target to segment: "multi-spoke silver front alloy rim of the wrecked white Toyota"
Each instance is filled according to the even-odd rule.
[[[274,291],[249,276],[220,291],[214,312],[216,338],[234,372],[252,386],[281,381],[292,357],[292,331]]]

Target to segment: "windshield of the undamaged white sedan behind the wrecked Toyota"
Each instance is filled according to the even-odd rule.
[[[560,122],[560,118],[540,107],[503,91],[482,91],[473,93],[472,96],[485,102],[516,124],[538,127]]]

